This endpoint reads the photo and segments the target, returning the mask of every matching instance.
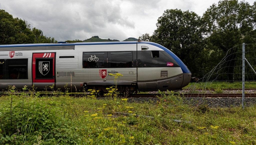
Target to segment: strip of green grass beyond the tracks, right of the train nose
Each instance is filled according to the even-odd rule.
[[[205,87],[206,86],[206,87]],[[197,83],[189,83],[188,86],[184,87],[183,89],[188,89],[188,88],[195,88],[195,89],[237,89],[240,88],[242,89],[242,82],[220,82],[220,81],[215,81],[215,82],[197,82]],[[245,88],[248,89],[256,89],[256,82],[245,82]]]

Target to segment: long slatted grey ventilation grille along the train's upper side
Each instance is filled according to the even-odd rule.
[[[75,46],[34,46],[34,47],[5,47],[0,51],[22,51],[22,50],[53,50],[53,49],[75,49]]]

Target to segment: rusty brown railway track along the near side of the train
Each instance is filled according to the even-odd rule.
[[[20,95],[22,92],[15,92],[14,95]],[[0,92],[1,96],[8,95],[10,92]],[[28,95],[36,94],[36,92],[26,92]],[[40,92],[39,96],[56,96],[56,95],[63,95],[61,92]],[[72,97],[86,97],[85,93],[67,93],[67,95],[72,96]],[[131,94],[125,97],[128,98],[156,98],[157,96],[160,96],[161,94]],[[164,95],[164,94],[162,94]],[[169,95],[169,94],[165,94]],[[174,95],[180,95],[182,97],[208,97],[208,98],[224,98],[224,97],[242,97],[242,94],[174,94]],[[99,96],[102,97],[102,96]],[[256,94],[245,94],[245,97],[256,97]]]

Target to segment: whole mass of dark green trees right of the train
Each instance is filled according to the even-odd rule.
[[[228,49],[242,43],[255,44],[255,25],[256,2],[250,5],[245,1],[220,0],[217,4],[212,4],[202,17],[192,11],[167,9],[157,19],[153,35],[145,33],[139,38],[156,42],[173,51],[193,76],[202,78],[203,74],[220,62]],[[253,48],[248,51],[254,51]],[[237,52],[238,47],[231,51]],[[238,73],[235,71],[239,71],[234,66],[240,64],[235,61],[241,55],[238,54],[234,59],[236,55],[233,53],[226,58],[229,67],[225,67],[223,73],[228,73],[225,76],[229,78],[227,80]],[[254,66],[254,62],[252,63]],[[247,79],[253,80],[253,77]]]

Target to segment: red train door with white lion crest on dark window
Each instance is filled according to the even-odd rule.
[[[55,56],[56,53],[33,53],[32,81],[37,88],[49,88],[55,85]]]

